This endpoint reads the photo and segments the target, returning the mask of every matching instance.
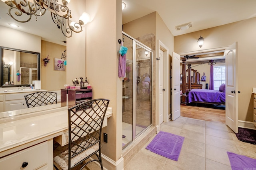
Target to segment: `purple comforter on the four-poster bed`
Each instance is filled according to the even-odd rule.
[[[225,93],[219,90],[192,89],[188,93],[188,102],[225,102]]]

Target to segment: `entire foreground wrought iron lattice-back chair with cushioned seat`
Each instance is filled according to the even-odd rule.
[[[68,144],[63,147],[54,145],[54,168],[58,170],[58,165],[63,170],[74,167],[81,170],[96,161],[103,170],[100,142],[108,103],[108,99],[93,99],[68,109]],[[86,161],[94,154],[98,159]]]

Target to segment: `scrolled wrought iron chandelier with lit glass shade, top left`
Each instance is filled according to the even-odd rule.
[[[71,10],[68,9],[70,0],[62,0],[62,4],[58,4],[59,0],[2,0],[6,5],[10,6],[8,15],[18,22],[28,22],[32,16],[43,16],[46,11],[51,12],[52,21],[58,29],[66,37],[71,37],[72,32],[80,33],[82,25],[90,21],[90,16],[84,12],[80,16],[78,22],[71,21]],[[24,15],[23,15],[24,14]],[[25,15],[26,14],[26,15]],[[67,25],[66,25],[67,24]]]

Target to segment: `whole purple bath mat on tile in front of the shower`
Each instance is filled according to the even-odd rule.
[[[184,137],[160,131],[146,149],[166,158],[178,161],[183,141]]]

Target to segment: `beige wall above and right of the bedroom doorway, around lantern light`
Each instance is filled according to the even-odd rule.
[[[256,87],[254,73],[256,57],[254,54],[256,44],[256,18],[230,23],[218,27],[204,29],[193,33],[174,37],[174,51],[185,53],[227,47],[238,42],[238,119],[253,122],[253,96],[252,88]],[[198,47],[197,40],[204,37],[202,49]]]

